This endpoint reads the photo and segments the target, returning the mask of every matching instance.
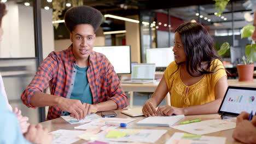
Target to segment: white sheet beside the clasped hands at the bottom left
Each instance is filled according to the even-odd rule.
[[[65,129],[59,129],[56,131],[52,131],[49,134],[53,134],[53,142],[52,144],[55,143],[62,143],[62,144],[66,144],[66,143],[73,143],[76,142],[79,139],[79,135],[82,134],[84,131],[82,130],[65,130]]]

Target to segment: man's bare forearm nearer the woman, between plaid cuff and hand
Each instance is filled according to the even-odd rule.
[[[111,111],[118,108],[114,100],[103,101],[101,103],[95,104],[95,106],[97,107],[97,111]]]

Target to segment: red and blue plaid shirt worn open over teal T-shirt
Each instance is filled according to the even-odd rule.
[[[27,107],[36,109],[30,104],[30,99],[34,93],[43,92],[48,85],[52,95],[70,98],[74,83],[72,74],[76,73],[74,70],[75,62],[72,45],[61,52],[51,52],[40,64],[36,76],[22,93],[22,103]],[[95,51],[90,53],[87,76],[94,104],[113,100],[118,109],[127,106],[128,98],[106,56]],[[65,113],[65,111],[62,111],[58,106],[50,106],[46,120],[60,117],[61,113]]]

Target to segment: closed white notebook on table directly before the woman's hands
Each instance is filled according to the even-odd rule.
[[[136,123],[136,125],[152,125],[152,126],[166,126],[170,127],[174,123],[184,118],[184,115],[176,116],[154,116],[144,118],[142,121]]]

